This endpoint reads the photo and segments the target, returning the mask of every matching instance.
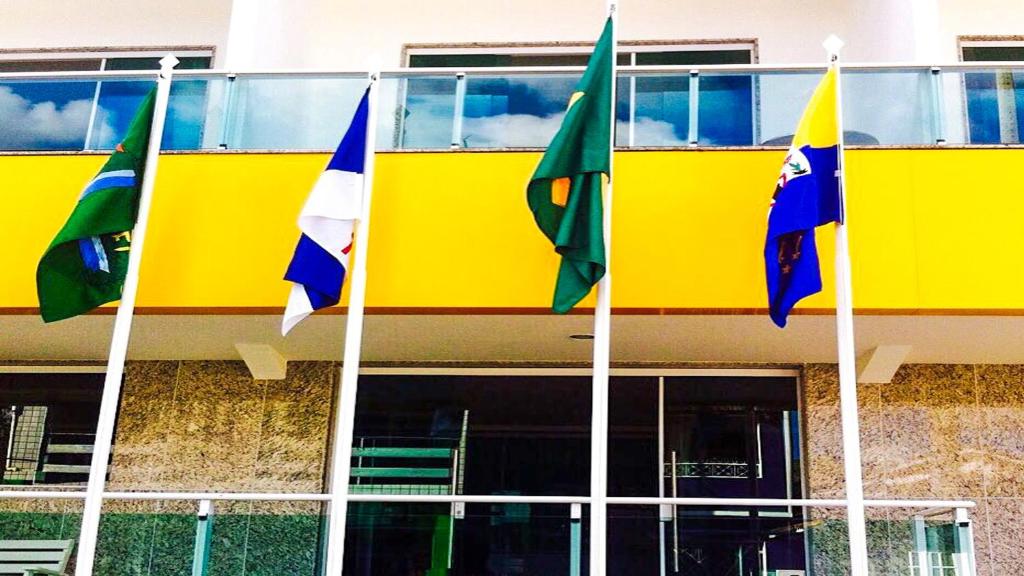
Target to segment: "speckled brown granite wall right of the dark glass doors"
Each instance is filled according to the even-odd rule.
[[[808,365],[803,376],[808,496],[842,498],[838,371]],[[978,576],[1018,573],[1024,561],[1024,366],[904,365],[891,383],[860,384],[858,399],[865,496],[976,501]],[[908,511],[873,510],[869,520],[887,515],[890,530],[902,532]],[[905,534],[890,536],[896,547],[906,541]]]

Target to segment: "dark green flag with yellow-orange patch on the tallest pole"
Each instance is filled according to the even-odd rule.
[[[604,276],[601,180],[609,173],[613,63],[608,18],[526,188],[537,225],[562,256],[552,304],[558,314],[572,310]]]

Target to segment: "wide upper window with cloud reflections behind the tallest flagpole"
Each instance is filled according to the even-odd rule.
[[[620,66],[742,65],[756,60],[755,43],[622,44]],[[409,46],[411,68],[584,66],[591,46]],[[544,147],[557,130],[574,75],[493,76],[465,80],[457,104],[454,76],[411,79],[406,85],[397,148]],[[686,74],[621,77],[615,106],[618,146],[686,146],[689,129]],[[701,78],[698,143],[750,145],[755,139],[753,77]],[[455,119],[461,111],[461,118]],[[714,122],[710,120],[714,118]],[[455,130],[452,126],[457,124]]]

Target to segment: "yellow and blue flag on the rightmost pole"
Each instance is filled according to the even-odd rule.
[[[804,110],[772,196],[765,239],[768,314],[780,328],[802,298],[821,291],[814,229],[842,222],[835,68]]]

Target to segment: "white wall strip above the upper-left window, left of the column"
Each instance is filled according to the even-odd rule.
[[[214,46],[231,0],[0,0],[0,50]]]

